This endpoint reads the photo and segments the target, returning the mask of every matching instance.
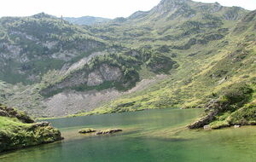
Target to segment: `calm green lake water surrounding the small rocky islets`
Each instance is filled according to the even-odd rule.
[[[187,130],[203,110],[164,109],[49,120],[65,140],[0,154],[0,162],[255,162],[256,127]],[[119,128],[79,135],[81,128]]]

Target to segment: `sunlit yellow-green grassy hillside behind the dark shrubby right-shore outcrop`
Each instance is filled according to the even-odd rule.
[[[170,77],[164,81],[154,84],[147,90],[137,91],[134,94],[123,96],[119,100],[111,101],[92,113],[79,115],[117,113],[156,107],[206,107],[209,101],[223,96],[225,87],[239,83],[250,84],[254,91],[256,49],[253,34],[255,27],[252,23],[252,20],[255,20],[253,13],[255,12],[247,14],[234,28],[231,28],[230,34],[224,39],[204,44],[203,47],[195,45],[195,47],[185,50],[188,54],[185,51],[179,53],[175,60],[180,66],[172,70]],[[250,20],[246,24],[247,17],[250,17]],[[247,28],[240,29],[241,24]],[[241,105],[236,110],[254,107],[255,96],[250,96],[251,99],[246,101],[248,105]],[[237,116],[239,115],[237,114]],[[219,118],[226,119],[228,117],[229,115]],[[248,118],[254,117],[249,115]],[[218,118],[215,121],[218,121]]]

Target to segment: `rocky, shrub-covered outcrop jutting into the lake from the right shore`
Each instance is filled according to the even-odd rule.
[[[233,84],[218,99],[209,101],[201,119],[187,127],[205,130],[256,124],[256,100],[253,98],[255,84]]]

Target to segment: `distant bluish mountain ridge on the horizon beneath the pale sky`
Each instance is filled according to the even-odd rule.
[[[110,19],[102,17],[93,17],[93,16],[83,16],[83,17],[63,17],[63,20],[67,20],[70,23],[79,25],[79,26],[92,26],[100,23],[108,22]]]

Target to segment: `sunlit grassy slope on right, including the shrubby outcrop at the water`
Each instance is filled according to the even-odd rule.
[[[206,115],[189,128],[255,124],[255,29],[253,11],[239,20],[221,42],[204,45],[207,49],[203,53],[197,51],[199,46],[189,49],[197,52],[182,57],[183,60],[189,57],[190,61],[184,62],[165,81],[92,113],[207,107]]]

